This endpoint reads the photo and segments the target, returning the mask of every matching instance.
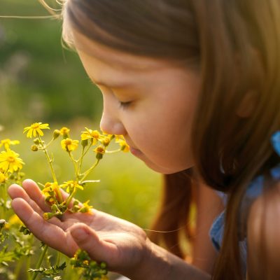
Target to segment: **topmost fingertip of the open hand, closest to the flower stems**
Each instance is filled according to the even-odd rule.
[[[43,211],[50,211],[50,207],[45,203],[45,197],[41,193],[38,185],[30,179],[27,179],[22,182],[22,188],[25,189],[31,200],[34,200],[38,204],[38,206],[43,209]]]

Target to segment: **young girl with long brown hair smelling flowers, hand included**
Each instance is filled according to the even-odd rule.
[[[63,16],[64,40],[102,91],[102,130],[166,174],[155,229],[186,225],[197,201],[205,219],[194,251],[207,268],[97,210],[44,221],[30,180],[10,186],[15,213],[46,244],[69,256],[83,248],[130,279],[279,279],[280,2],[66,0]],[[200,234],[222,211],[216,194],[225,202],[209,237],[217,260]],[[170,238],[169,248],[179,235]]]

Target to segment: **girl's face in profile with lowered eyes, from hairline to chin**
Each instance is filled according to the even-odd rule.
[[[85,71],[102,92],[101,129],[123,134],[148,167],[172,174],[193,166],[190,132],[198,73],[163,59],[126,54],[75,33]]]

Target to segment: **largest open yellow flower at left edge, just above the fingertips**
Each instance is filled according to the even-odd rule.
[[[25,163],[21,158],[18,158],[19,154],[14,151],[8,150],[6,152],[0,153],[0,168],[4,170],[4,172],[15,172],[18,169],[22,169],[22,165]]]

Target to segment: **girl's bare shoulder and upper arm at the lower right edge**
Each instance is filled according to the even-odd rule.
[[[247,230],[248,279],[279,279],[280,183],[253,202]]]

